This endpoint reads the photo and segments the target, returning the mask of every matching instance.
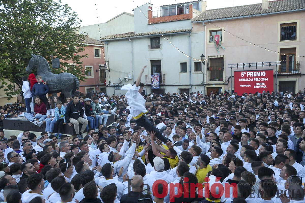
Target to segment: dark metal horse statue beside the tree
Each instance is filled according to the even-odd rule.
[[[35,54],[31,54],[31,56],[26,72],[30,74],[37,68],[37,75],[40,75],[42,80],[47,83],[49,93],[63,92],[67,98],[79,89],[79,81],[75,75],[66,72],[53,74],[45,58]]]

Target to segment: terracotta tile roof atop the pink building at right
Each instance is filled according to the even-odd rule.
[[[261,3],[206,10],[202,12],[199,16],[193,18],[192,21],[231,18],[263,13],[273,13],[279,11],[298,10],[304,8],[305,0],[277,0],[270,1],[269,8],[264,10],[261,9]]]

